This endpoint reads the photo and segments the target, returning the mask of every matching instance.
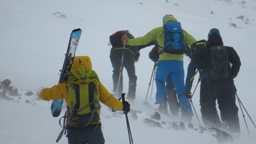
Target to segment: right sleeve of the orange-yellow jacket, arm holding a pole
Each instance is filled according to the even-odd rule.
[[[112,109],[117,109],[118,111],[123,109],[123,104],[108,92],[102,84],[99,85],[99,101]]]

